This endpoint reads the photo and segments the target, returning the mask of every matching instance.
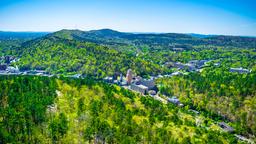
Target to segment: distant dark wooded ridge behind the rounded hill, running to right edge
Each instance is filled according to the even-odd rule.
[[[173,46],[173,45],[213,45],[213,46],[232,46],[240,48],[256,47],[256,38],[241,36],[209,36],[205,38],[193,37],[189,34],[178,33],[162,33],[162,34],[135,34],[123,33],[111,29],[101,29],[92,31],[80,30],[61,30],[53,35],[65,37],[68,39],[76,39],[90,41],[108,45],[149,45],[153,46]]]

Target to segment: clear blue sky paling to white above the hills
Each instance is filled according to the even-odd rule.
[[[254,0],[0,0],[0,30],[256,36]]]

